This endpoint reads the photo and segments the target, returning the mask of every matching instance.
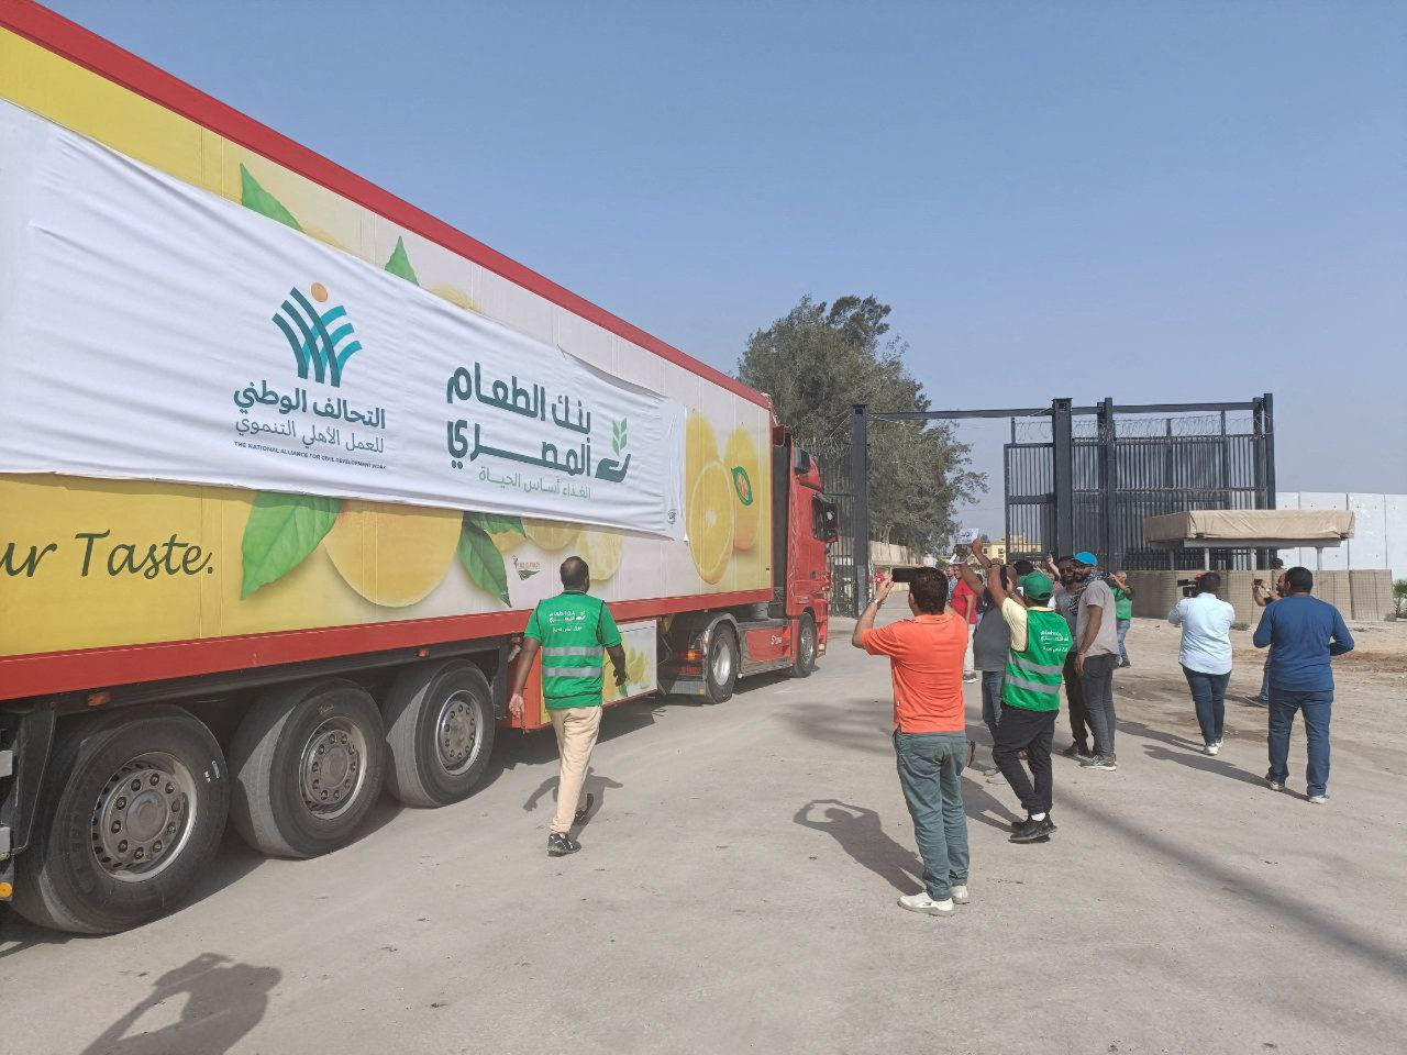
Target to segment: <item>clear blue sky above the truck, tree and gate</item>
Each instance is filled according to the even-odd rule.
[[[874,293],[936,407],[1273,391],[1407,492],[1404,3],[53,6],[715,366]]]

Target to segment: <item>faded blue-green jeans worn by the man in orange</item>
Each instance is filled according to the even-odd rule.
[[[929,897],[946,902],[954,885],[967,883],[967,813],[962,765],[967,733],[893,733],[899,784],[913,817]]]

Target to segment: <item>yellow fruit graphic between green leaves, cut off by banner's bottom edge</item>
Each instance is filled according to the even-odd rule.
[[[348,499],[322,540],[338,574],[367,601],[405,608],[445,578],[463,513]]]

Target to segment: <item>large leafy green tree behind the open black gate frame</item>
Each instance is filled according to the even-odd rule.
[[[743,384],[768,392],[777,416],[832,454],[848,450],[850,407],[927,411],[923,385],[889,333],[889,305],[841,297],[829,307],[802,297],[754,332],[737,363]],[[879,542],[936,550],[955,530],[953,509],[986,491],[968,445],[947,423],[875,422],[870,430],[870,529]]]

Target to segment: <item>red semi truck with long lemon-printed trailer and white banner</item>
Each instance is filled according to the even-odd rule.
[[[507,686],[570,556],[608,705],[826,651],[836,509],[768,397],[28,0],[0,378],[0,900],[41,926],[159,917],[227,823],[305,858],[469,796],[547,724]]]

